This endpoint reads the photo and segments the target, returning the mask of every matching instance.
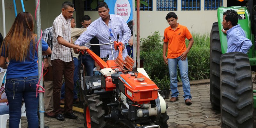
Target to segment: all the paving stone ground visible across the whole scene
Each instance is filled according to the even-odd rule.
[[[192,85],[192,105],[185,104],[182,87],[179,86],[179,100],[168,104],[167,121],[169,128],[220,128],[220,112],[213,111],[209,97],[209,84]],[[65,121],[58,121],[55,118],[44,116],[44,123],[49,128],[82,128],[84,127],[84,117],[81,113],[75,113],[76,120],[66,118]],[[254,114],[255,115],[255,114]],[[22,128],[27,128],[26,118],[22,118]],[[256,117],[254,117],[256,122]],[[108,124],[108,128],[120,128],[124,126]]]

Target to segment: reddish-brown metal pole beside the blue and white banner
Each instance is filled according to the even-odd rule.
[[[140,68],[140,0],[137,0],[137,67]]]

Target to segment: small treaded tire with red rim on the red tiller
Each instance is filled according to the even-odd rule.
[[[84,126],[86,128],[103,128],[105,111],[102,110],[103,103],[100,96],[96,94],[87,95],[84,103]]]

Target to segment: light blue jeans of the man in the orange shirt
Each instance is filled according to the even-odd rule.
[[[178,97],[178,81],[177,81],[177,64],[180,68],[180,76],[182,81],[182,87],[184,92],[184,100],[191,99],[190,84],[188,79],[188,58],[186,60],[180,60],[180,57],[174,59],[168,59],[168,68],[170,74],[170,87],[172,97]]]

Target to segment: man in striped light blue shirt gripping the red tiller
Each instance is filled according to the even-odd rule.
[[[117,34],[119,34],[119,40],[123,43],[123,58],[127,56],[127,50],[124,47],[128,43],[131,37],[131,30],[129,29],[125,20],[119,15],[109,14],[108,5],[105,2],[100,2],[98,4],[98,13],[100,18],[93,21],[90,26],[87,27],[85,31],[75,42],[76,45],[83,46],[90,42],[93,37],[99,39],[99,44],[109,43],[109,36],[111,36],[111,41],[117,41]],[[113,54],[111,52],[111,47],[113,49]],[[118,56],[118,51],[115,51],[114,44],[100,45],[100,57],[106,58],[109,55],[109,60],[116,59]]]

